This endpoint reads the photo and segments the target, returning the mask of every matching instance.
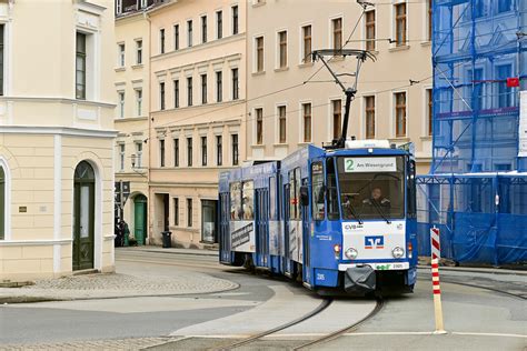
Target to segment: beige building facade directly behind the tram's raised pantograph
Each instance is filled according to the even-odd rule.
[[[375,2],[375,1],[374,1]],[[251,1],[247,11],[247,154],[281,159],[306,143],[340,136],[345,98],[317,49],[368,49],[351,104],[348,136],[416,144],[418,171],[431,158],[430,1]],[[272,18],[272,21],[269,19]],[[330,58],[328,58],[330,59]],[[355,72],[356,60],[336,57],[330,67]],[[349,87],[355,79],[341,76]]]

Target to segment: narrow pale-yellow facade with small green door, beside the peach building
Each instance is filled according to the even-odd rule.
[[[150,22],[153,0],[116,2],[116,218],[122,218],[138,244],[148,241],[150,114]],[[122,189],[120,189],[122,188]],[[127,194],[125,197],[125,193]],[[127,238],[128,239],[128,238]]]

